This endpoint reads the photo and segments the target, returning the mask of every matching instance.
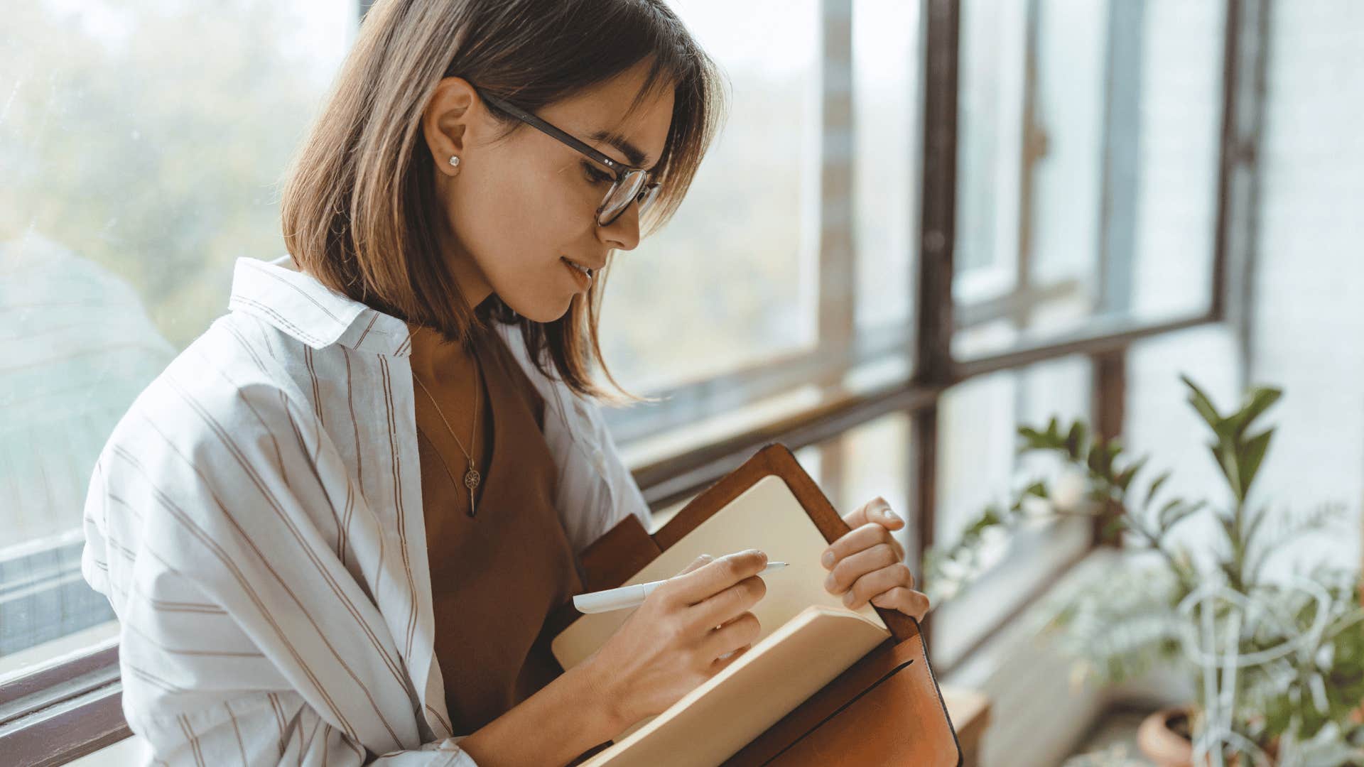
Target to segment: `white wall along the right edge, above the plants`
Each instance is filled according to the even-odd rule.
[[[1262,490],[1364,506],[1364,3],[1273,3],[1255,381],[1281,385]],[[1357,530],[1357,527],[1354,528]],[[1337,551],[1359,561],[1359,536]]]

